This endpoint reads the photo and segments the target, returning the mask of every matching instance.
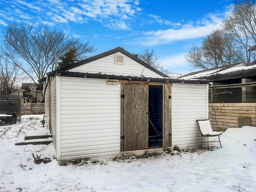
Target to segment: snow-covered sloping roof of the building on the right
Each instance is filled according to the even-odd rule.
[[[234,78],[256,77],[256,65],[245,66],[245,62],[192,72],[181,76],[182,79],[207,79],[213,81],[228,80]]]

